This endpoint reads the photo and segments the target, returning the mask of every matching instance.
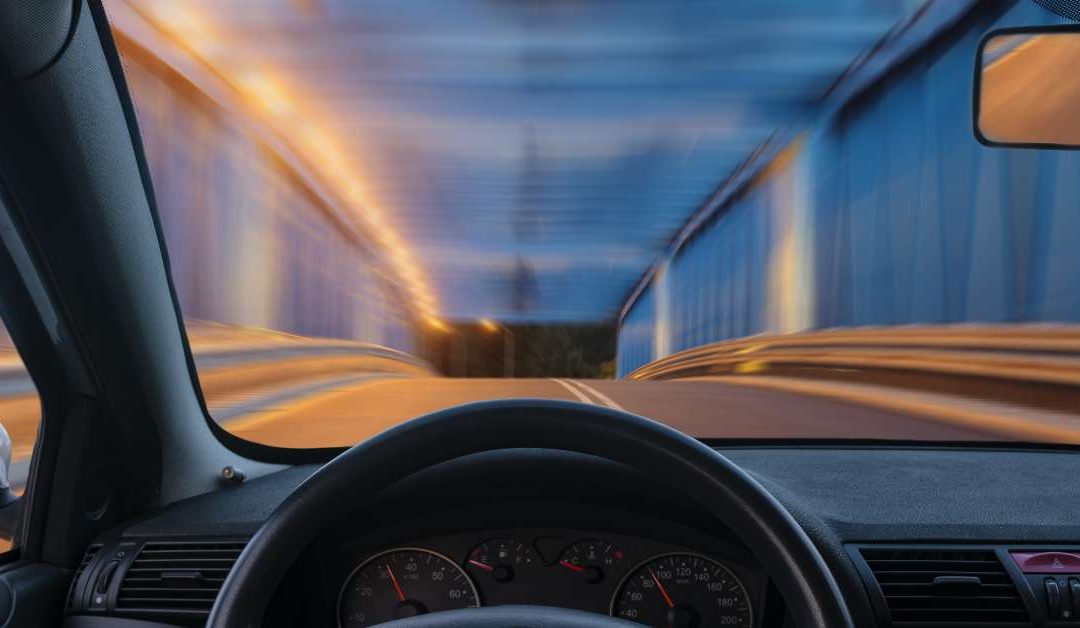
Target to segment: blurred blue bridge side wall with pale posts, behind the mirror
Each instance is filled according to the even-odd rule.
[[[982,37],[1056,22],[1035,2],[975,2],[838,90],[842,106],[726,185],[643,279],[620,319],[619,374],[758,333],[1080,323],[1080,153],[988,148],[971,131]]]

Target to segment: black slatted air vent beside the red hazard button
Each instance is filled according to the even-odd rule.
[[[991,549],[862,548],[894,626],[1028,620],[1016,585]]]

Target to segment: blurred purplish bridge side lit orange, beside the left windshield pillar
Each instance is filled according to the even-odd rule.
[[[362,208],[137,2],[107,4],[185,316],[421,352]]]

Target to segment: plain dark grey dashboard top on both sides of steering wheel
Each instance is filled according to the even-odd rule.
[[[1077,453],[963,447],[718,451],[761,481],[800,523],[826,526],[841,542],[1080,538]],[[580,470],[607,465],[594,459]],[[186,499],[127,525],[123,534],[251,534],[315,470],[293,467]]]

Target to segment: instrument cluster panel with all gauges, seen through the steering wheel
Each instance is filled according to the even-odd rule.
[[[765,578],[734,547],[577,529],[495,529],[341,548],[341,628],[422,613],[536,604],[648,626],[756,628]],[[340,569],[338,567],[338,571]]]

